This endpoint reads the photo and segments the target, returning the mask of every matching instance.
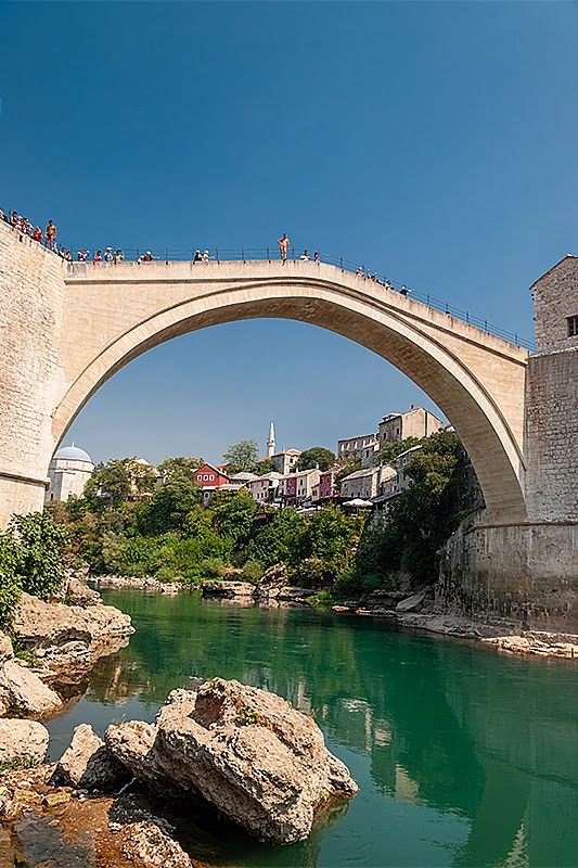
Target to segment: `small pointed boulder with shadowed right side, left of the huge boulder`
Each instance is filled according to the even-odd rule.
[[[92,727],[80,724],[59,761],[55,777],[69,787],[94,790],[123,783],[129,776],[126,767],[111,756]]]

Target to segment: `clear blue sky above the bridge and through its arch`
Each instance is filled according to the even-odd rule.
[[[576,2],[0,3],[0,207],[74,250],[309,247],[532,336],[578,253]],[[0,264],[1,265],[1,264]],[[335,448],[434,405],[311,326],[146,353],[66,442],[95,460]]]

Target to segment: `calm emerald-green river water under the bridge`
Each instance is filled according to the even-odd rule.
[[[393,631],[310,609],[104,590],[130,644],[49,724],[51,756],[88,722],[152,720],[192,677],[237,678],[314,713],[359,794],[308,841],[260,844],[210,810],[181,818],[223,866],[578,866],[576,664]]]

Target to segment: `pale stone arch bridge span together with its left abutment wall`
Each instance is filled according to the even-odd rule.
[[[310,322],[406,373],[476,469],[488,527],[531,519],[527,350],[342,269],[308,261],[67,265],[0,225],[0,524],[41,509],[52,452],[89,398],[147,349],[257,317]]]

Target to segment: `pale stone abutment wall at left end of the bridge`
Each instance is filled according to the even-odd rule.
[[[0,222],[0,527],[42,509],[64,275],[62,259]]]

